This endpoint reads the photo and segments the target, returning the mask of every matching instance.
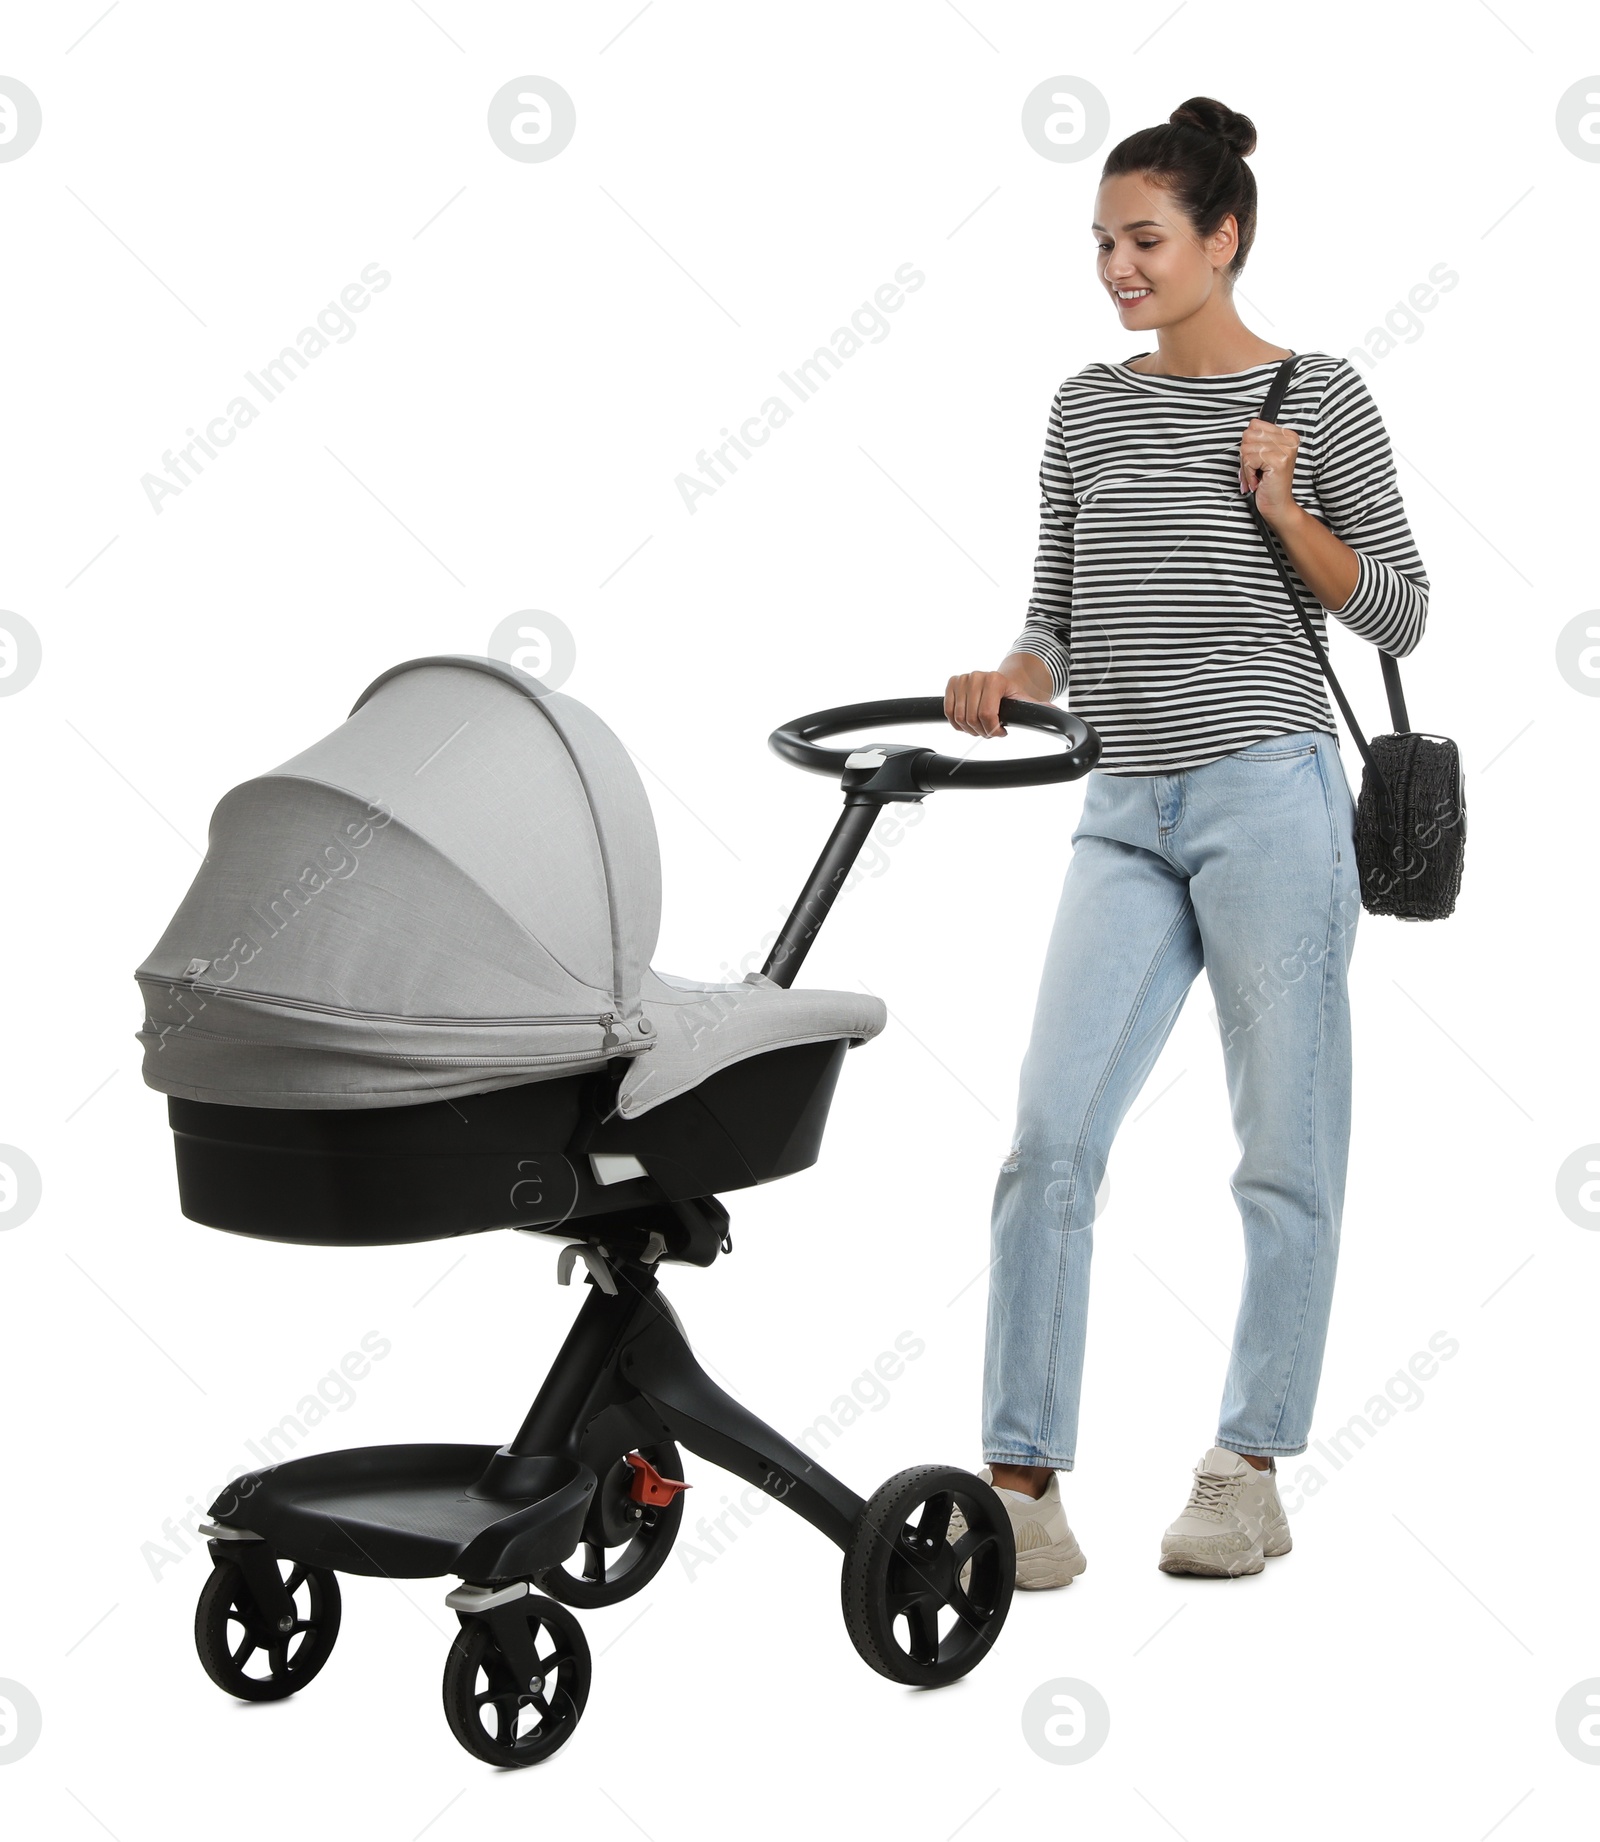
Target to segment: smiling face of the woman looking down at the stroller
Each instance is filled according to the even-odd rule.
[[[1096,273],[1130,332],[1186,321],[1224,287],[1237,225],[1224,217],[1202,243],[1175,199],[1149,173],[1101,181],[1094,204]]]

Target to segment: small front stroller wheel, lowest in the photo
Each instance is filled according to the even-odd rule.
[[[481,1617],[462,1621],[444,1660],[444,1717],[460,1744],[486,1765],[521,1766],[549,1759],[573,1737],[589,1700],[589,1643],[573,1614],[536,1593],[517,1601],[517,1612],[536,1626],[534,1643],[545,1665],[543,1691],[532,1693],[516,1684],[493,1632]],[[484,1687],[479,1687],[479,1676]],[[484,1704],[493,1708],[493,1733],[482,1722]],[[527,1708],[536,1711],[538,1720],[517,1733]]]

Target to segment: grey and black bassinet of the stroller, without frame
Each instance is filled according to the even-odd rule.
[[[812,1164],[886,1013],[663,976],[659,919],[606,724],[490,659],[387,672],[221,801],[138,971],[184,1212],[320,1243],[626,1216],[703,1264],[692,1205]]]

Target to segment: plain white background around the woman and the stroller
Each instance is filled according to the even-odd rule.
[[[0,57],[44,118],[0,164],[0,604],[44,647],[0,702],[0,1138],[44,1181],[0,1236],[0,1678],[44,1720],[0,1772],[9,1833],[1591,1835],[1600,1774],[1556,1706],[1600,1674],[1600,1238],[1556,1172],[1600,1138],[1580,1054],[1600,702],[1556,645],[1596,599],[1600,168],[1554,120],[1593,44],[1558,9],[1477,4],[98,13],[17,9]],[[519,76],[576,103],[545,164],[486,133]],[[867,1671],[838,1555],[773,1509],[692,1577],[672,1556],[582,1615],[589,1709],[532,1772],[477,1765],[444,1726],[447,1582],[348,1580],[317,1684],[232,1704],[190,1639],[208,1562],[190,1545],[153,1577],[162,1525],[366,1332],[390,1354],[304,1450],[510,1437],[574,1293],[534,1236],[357,1253],[182,1219],[129,974],[210,809],[387,665],[482,652],[547,610],[578,645],[565,689],[637,752],[655,807],[657,965],[757,963],[838,803],[766,733],[998,661],[1049,398],[1140,348],[1094,286],[1103,153],[1051,162],[1020,129],[1057,76],[1107,96],[1107,147],[1197,92],[1256,120],[1239,302],[1272,341],[1348,352],[1436,263],[1460,274],[1366,378],[1434,586],[1412,715],[1462,744],[1471,855],[1451,921],[1361,923],[1316,1437],[1429,1337],[1458,1352],[1342,1466],[1285,1463],[1291,1503],[1300,1464],[1324,1475],[1293,1556],[1232,1584],[1156,1571],[1215,1431],[1241,1269],[1200,987],[1110,1164],[1066,1481],[1088,1573],[1018,1595],[967,1682]],[[355,335],[153,512],[162,451],[372,262],[392,286]],[[690,516],[674,477],[906,262],[926,286],[889,335]],[[1335,663],[1383,728],[1372,654],[1339,634]],[[805,978],[882,995],[891,1024],[847,1061],[819,1164],[733,1195],[735,1254],[668,1277],[701,1354],[790,1435],[922,1339],[823,1453],[862,1492],[980,1463],[989,1197],[1079,801],[943,796],[865,860]],[[685,1542],[738,1488],[689,1475]],[[1105,1696],[1094,1757],[1027,1746],[1051,1678]]]

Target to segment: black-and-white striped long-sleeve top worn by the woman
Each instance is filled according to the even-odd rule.
[[[1049,409],[1027,624],[1013,650],[1103,740],[1108,774],[1171,774],[1333,729],[1328,689],[1239,492],[1239,440],[1276,361],[1217,378],[1088,365]],[[1359,558],[1335,619],[1385,652],[1421,639],[1429,582],[1377,405],[1348,359],[1300,354],[1278,414],[1294,497]],[[1285,556],[1287,560],[1287,556]],[[1326,643],[1316,597],[1294,586]]]

